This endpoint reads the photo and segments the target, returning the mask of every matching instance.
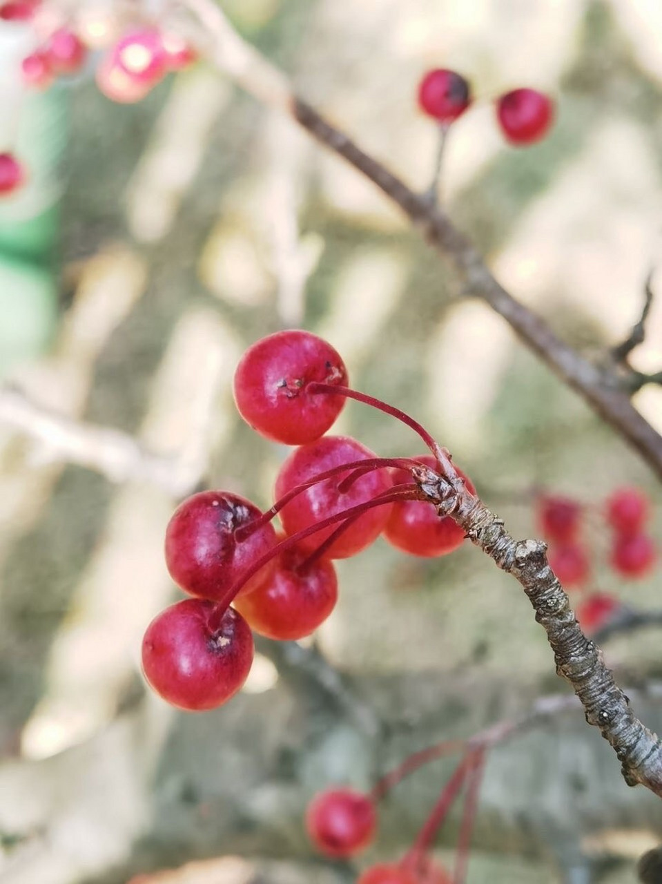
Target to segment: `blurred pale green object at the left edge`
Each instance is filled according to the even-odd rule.
[[[57,323],[69,89],[23,87],[20,59],[31,40],[13,23],[0,27],[0,150],[11,150],[27,173],[25,186],[0,202],[0,377],[42,354]]]

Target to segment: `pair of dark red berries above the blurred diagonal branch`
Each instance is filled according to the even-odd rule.
[[[418,88],[418,102],[424,113],[450,126],[468,109],[473,99],[468,81],[455,71],[438,68],[427,72]],[[514,145],[532,144],[549,132],[554,103],[536,89],[519,88],[500,95],[495,102],[498,126]]]

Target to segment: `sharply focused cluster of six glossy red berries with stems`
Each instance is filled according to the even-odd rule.
[[[142,646],[148,682],[171,704],[209,709],[239,690],[253,657],[252,631],[281,640],[313,632],[338,597],[332,560],[361,552],[380,534],[420,556],[462,543],[462,530],[438,516],[415,482],[435,469],[433,455],[379,458],[354,438],[323,435],[351,398],[398,417],[439,450],[408,415],[346,383],[339,354],[307,331],[279,331],[241,359],[234,377],[240,415],[266,438],[298,447],[266,512],[237,494],[209,491],[172,515],[166,564],[194,598],[159,614]],[[272,524],[277,514],[283,534]]]

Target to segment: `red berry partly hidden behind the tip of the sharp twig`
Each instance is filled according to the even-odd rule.
[[[431,454],[422,454],[416,461],[435,469],[437,461]],[[471,479],[461,469],[458,473],[465,480],[468,490],[476,493]],[[392,470],[393,484],[411,482],[411,473],[406,469]],[[424,500],[398,500],[391,510],[384,528],[384,537],[402,552],[422,558],[446,555],[453,552],[464,540],[464,531],[453,522],[450,516],[440,518],[431,503]]]

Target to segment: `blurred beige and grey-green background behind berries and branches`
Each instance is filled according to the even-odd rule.
[[[103,19],[103,3],[84,10]],[[651,269],[662,289],[657,0],[222,6],[415,189],[436,142],[418,81],[435,66],[467,77],[478,100],[450,135],[445,204],[506,288],[583,354],[627,337]],[[0,882],[351,882],[303,834],[316,789],[366,788],[410,752],[565,688],[529,602],[491,560],[468,546],[416,560],[379,540],[339,563],[316,646],[261,644],[231,704],[186,715],[145,690],[142,632],[180,597],[162,552],[173,508],[202,487],[267,507],[286,455],[234,409],[247,345],[285,326],[329,339],[353,385],[424,423],[515,536],[536,533],[536,488],[590,505],[591,588],[651,610],[659,571],[626,583],[605,567],[600,507],[620,484],[662,495],[399,212],[293,123],[204,64],[132,105],[99,93],[94,58],[27,93],[26,34],[0,21],[0,137],[31,170],[0,203]],[[491,103],[519,86],[558,101],[529,149],[506,146]],[[659,370],[660,299],[647,328],[633,362]],[[662,431],[662,391],[635,403]],[[355,403],[334,431],[380,455],[422,453]],[[605,658],[620,683],[654,685],[658,629],[611,639]],[[661,710],[652,694],[635,705],[652,728]],[[407,850],[450,770],[399,786],[358,867]],[[442,859],[458,826],[456,813]],[[468,882],[626,884],[661,836],[659,800],[628,789],[572,713],[491,753]]]

